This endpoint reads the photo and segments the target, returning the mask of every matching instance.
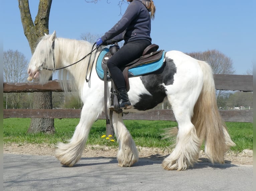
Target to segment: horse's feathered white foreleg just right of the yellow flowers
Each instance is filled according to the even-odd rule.
[[[130,132],[123,123],[121,113],[113,112],[113,126],[119,144],[118,166],[132,166],[139,160],[139,154]]]

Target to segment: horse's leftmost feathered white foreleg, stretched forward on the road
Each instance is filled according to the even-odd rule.
[[[61,164],[71,167],[80,160],[91,126],[102,112],[102,103],[97,100],[98,97],[94,97],[88,101],[90,103],[84,104],[80,122],[69,143],[58,143],[55,156]]]

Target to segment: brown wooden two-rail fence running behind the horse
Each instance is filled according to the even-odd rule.
[[[214,75],[217,90],[253,91],[253,76],[251,75]],[[4,83],[4,93],[20,92],[63,92],[59,81],[49,81],[45,85],[38,83]],[[81,109],[4,109],[4,118],[80,118]],[[224,121],[253,122],[253,109],[250,110],[220,110]],[[99,117],[105,119],[105,114]],[[153,109],[141,113],[124,113],[123,119],[130,120],[171,120],[175,117],[171,109]]]

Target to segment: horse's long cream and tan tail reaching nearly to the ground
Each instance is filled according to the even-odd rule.
[[[205,153],[212,163],[224,163],[224,154],[235,143],[231,140],[222,119],[215,93],[213,72],[209,64],[198,61],[203,71],[203,87],[194,107],[191,122],[201,143],[205,140]]]

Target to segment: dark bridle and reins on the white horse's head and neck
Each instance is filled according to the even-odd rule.
[[[75,64],[77,64],[77,63],[79,63],[79,62],[81,62],[81,61],[84,60],[87,56],[90,55],[89,63],[88,63],[88,66],[87,66],[87,71],[86,71],[86,82],[88,82],[88,81],[90,80],[90,78],[91,78],[91,73],[92,73],[92,68],[93,68],[93,64],[92,64],[91,71],[90,71],[90,76],[89,76],[89,79],[87,79],[87,74],[88,74],[88,69],[89,69],[90,62],[91,62],[92,53],[93,53],[96,49],[98,50],[97,47],[96,47],[95,49],[93,49],[93,47],[94,47],[94,45],[95,45],[96,43],[93,44],[93,47],[92,47],[91,52],[88,53],[87,55],[85,55],[85,56],[84,56],[83,58],[81,58],[79,61],[77,61],[77,62],[75,62],[75,63],[73,63],[73,64],[70,64],[70,65],[68,65],[68,66],[65,66],[65,67],[55,68],[55,58],[54,58],[54,53],[53,53],[53,51],[54,51],[54,46],[55,46],[55,43],[54,43],[54,42],[55,42],[55,41],[53,41],[52,44],[51,44],[51,53],[52,53],[52,60],[53,60],[53,69],[49,69],[49,68],[43,67],[43,64],[44,64],[45,62],[43,62],[43,63],[41,64],[41,66],[37,67],[37,69],[38,69],[39,71],[41,71],[41,70],[49,70],[49,71],[53,71],[53,72],[54,72],[55,70],[61,70],[61,69],[64,69],[64,68],[68,68],[68,67],[70,67],[70,66],[73,66],[73,65],[75,65]],[[96,51],[96,52],[97,52],[97,51]],[[96,54],[95,54],[95,57],[96,57]],[[95,57],[94,57],[94,59],[93,59],[93,63],[94,63]]]

